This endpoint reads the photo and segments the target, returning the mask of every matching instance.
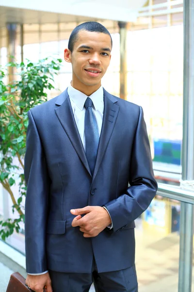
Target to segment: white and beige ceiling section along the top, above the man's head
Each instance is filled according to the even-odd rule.
[[[0,27],[12,23],[135,21],[146,0],[0,0]]]

